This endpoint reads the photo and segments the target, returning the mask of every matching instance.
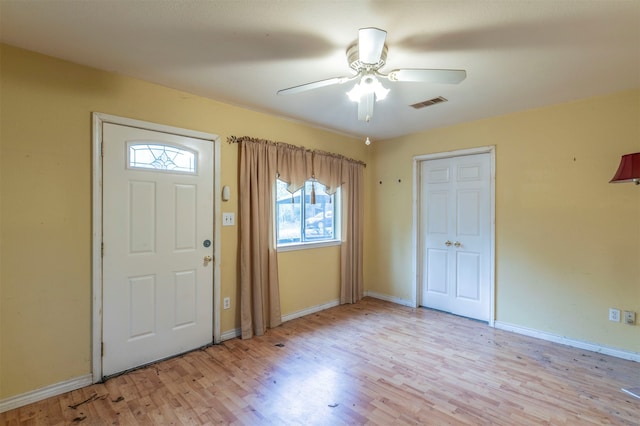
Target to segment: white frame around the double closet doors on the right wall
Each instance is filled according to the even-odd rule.
[[[442,158],[462,157],[474,154],[489,154],[490,163],[490,190],[489,190],[489,206],[490,206],[490,221],[491,231],[489,232],[489,326],[493,327],[495,323],[495,267],[496,267],[496,147],[495,146],[483,146],[478,148],[461,149],[456,151],[438,152],[433,154],[417,155],[413,157],[413,306],[417,308],[420,306],[420,300],[422,300],[422,275],[421,259],[422,251],[420,249],[420,194],[422,179],[420,174],[420,164],[423,161],[439,160]]]

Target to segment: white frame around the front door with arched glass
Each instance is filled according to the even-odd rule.
[[[213,343],[220,343],[220,137],[212,133],[204,133],[195,130],[182,129],[179,127],[166,126],[163,124],[148,121],[135,120],[126,117],[92,113],[92,243],[91,243],[91,307],[92,307],[92,328],[91,328],[91,371],[93,383],[102,381],[102,126],[105,123],[119,124],[123,126],[136,127],[144,130],[171,133],[179,136],[202,139],[213,143]]]

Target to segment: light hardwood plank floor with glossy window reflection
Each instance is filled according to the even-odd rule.
[[[0,414],[7,425],[638,425],[640,363],[365,298]]]

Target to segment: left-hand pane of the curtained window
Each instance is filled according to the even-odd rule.
[[[278,244],[299,243],[302,241],[302,190],[291,194],[286,182],[278,179],[276,191],[276,240]]]

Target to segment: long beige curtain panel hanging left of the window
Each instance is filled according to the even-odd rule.
[[[273,198],[277,146],[240,141],[240,316],[242,338],[282,322]]]

